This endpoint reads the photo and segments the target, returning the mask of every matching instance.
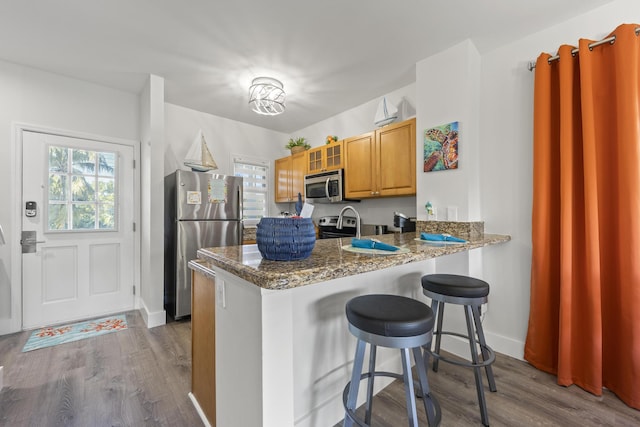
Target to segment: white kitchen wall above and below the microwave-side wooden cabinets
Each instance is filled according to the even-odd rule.
[[[416,85],[410,84],[388,93],[387,101],[398,107],[397,121],[403,121],[415,116]],[[376,129],[373,118],[381,98],[375,98],[355,108],[337,114],[321,122],[315,123],[293,133],[292,136],[307,138],[312,147],[325,144],[327,135],[336,135],[338,139],[360,135]],[[279,157],[289,155],[283,151]],[[352,203],[362,219],[363,224],[382,224],[393,228],[393,212],[399,211],[409,216],[416,215],[415,197],[391,197],[363,200]],[[324,215],[337,215],[343,204],[317,204],[313,211],[313,218]],[[280,210],[293,211],[293,204],[279,203]]]

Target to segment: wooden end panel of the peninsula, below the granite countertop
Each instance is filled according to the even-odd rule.
[[[211,423],[216,423],[215,281],[191,273],[191,392]]]

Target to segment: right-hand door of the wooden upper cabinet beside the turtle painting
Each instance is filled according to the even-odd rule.
[[[416,120],[376,131],[379,196],[416,194]]]

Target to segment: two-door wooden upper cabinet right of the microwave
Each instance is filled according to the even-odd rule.
[[[416,194],[416,120],[344,140],[345,197]]]

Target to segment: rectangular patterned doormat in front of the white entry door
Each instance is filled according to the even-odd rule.
[[[22,352],[97,337],[98,335],[121,331],[123,329],[127,329],[127,319],[124,314],[72,323],[70,325],[42,328],[33,331],[27,343],[24,345]]]

